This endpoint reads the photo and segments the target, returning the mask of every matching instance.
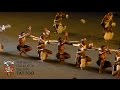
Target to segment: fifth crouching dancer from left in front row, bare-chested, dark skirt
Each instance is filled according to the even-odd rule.
[[[99,59],[96,62],[99,66],[99,73],[102,73],[102,71],[108,67],[112,67],[111,62],[106,60],[107,54],[111,54],[110,50],[106,49],[106,47],[102,45],[101,50],[99,51]]]

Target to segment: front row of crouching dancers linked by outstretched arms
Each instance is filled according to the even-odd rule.
[[[66,37],[66,33],[64,37],[59,37],[57,41],[52,41],[50,40],[50,31],[45,28],[43,33],[39,36],[33,36],[31,35],[31,28],[29,28],[29,31],[27,33],[21,33],[19,35],[19,45],[17,46],[17,49],[20,51],[20,55],[25,54],[28,51],[31,51],[32,48],[28,45],[25,44],[26,42],[26,37],[32,37],[33,40],[38,41],[38,46],[37,46],[37,53],[38,57],[41,62],[46,60],[49,55],[52,54],[52,51],[49,49],[46,49],[47,44],[52,44],[56,43],[58,45],[58,50],[56,53],[56,58],[60,61],[60,63],[65,63],[66,59],[71,58],[71,55],[65,51],[65,44],[67,45],[75,45],[74,43],[71,43],[68,40],[68,34]],[[78,43],[76,44],[78,45]],[[86,38],[81,39],[81,42],[79,43],[78,50],[76,52],[76,67],[79,67],[81,69],[84,69],[87,65],[89,65],[92,61],[90,56],[86,55],[87,50],[98,50],[99,51],[99,57],[98,60],[96,61],[96,64],[99,66],[99,73],[102,73],[104,69],[108,67],[113,67],[112,69],[112,75],[117,75],[117,78],[120,78],[120,49],[118,50],[113,50],[113,49],[108,49],[106,46],[102,45],[101,48],[95,48],[93,46],[93,43],[86,43]],[[116,51],[116,57],[115,57],[115,62],[112,65],[110,61],[107,61],[107,54],[111,54],[112,51]]]

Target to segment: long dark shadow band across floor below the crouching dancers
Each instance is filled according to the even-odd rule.
[[[21,58],[21,59],[25,59],[25,60],[39,60],[39,58],[35,57],[35,56],[27,56],[27,57],[22,56],[21,57],[19,55],[11,54],[11,53],[8,53],[8,52],[2,52],[2,53],[0,53],[0,55],[8,56],[9,58],[11,58],[13,60],[17,60],[17,58],[19,58],[19,59]],[[67,62],[60,63],[60,61],[57,60],[57,59],[47,59],[44,62],[51,63],[51,64],[54,64],[54,65],[62,65],[62,66],[67,65],[68,67],[71,67],[71,68],[74,68],[74,69],[79,69],[73,63],[67,63]],[[99,68],[98,67],[86,66],[84,70],[87,70],[87,71],[90,71],[90,72],[94,72],[94,73],[98,73]],[[103,73],[111,74],[112,71],[105,70]]]

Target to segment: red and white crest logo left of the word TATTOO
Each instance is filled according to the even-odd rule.
[[[14,61],[4,61],[4,71],[10,76],[14,72]]]

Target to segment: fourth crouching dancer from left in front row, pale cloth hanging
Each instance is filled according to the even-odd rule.
[[[81,43],[78,47],[78,51],[76,53],[76,66],[83,69],[86,65],[90,64],[91,58],[86,56],[87,44],[86,38],[81,40]]]

